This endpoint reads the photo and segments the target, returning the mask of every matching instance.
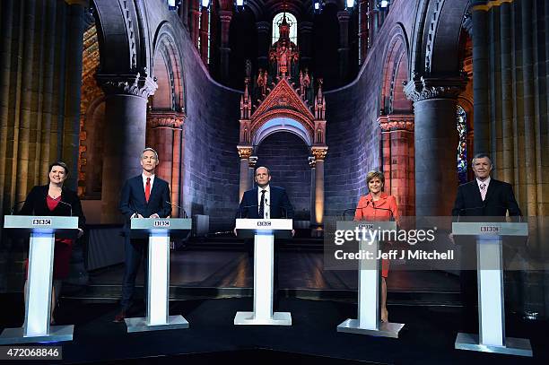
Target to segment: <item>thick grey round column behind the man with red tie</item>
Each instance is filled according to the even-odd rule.
[[[97,79],[106,94],[101,223],[116,223],[122,221],[118,212],[122,185],[142,170],[147,98],[157,85],[140,74],[98,74]]]

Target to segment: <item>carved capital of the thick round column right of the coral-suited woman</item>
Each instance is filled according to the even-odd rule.
[[[420,76],[405,84],[406,97],[414,102],[429,99],[456,99],[465,90],[466,77],[425,78]]]

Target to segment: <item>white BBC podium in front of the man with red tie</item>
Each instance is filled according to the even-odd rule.
[[[126,318],[127,332],[188,328],[187,319],[170,316],[170,235],[186,237],[190,218],[134,218],[131,238],[149,239],[146,317]]]

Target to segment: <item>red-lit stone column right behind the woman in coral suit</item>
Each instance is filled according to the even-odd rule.
[[[396,197],[400,215],[414,215],[414,115],[378,117],[385,192]]]

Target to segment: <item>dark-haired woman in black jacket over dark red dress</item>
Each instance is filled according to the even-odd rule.
[[[78,238],[83,235],[83,227],[86,221],[82,204],[76,193],[63,187],[68,175],[68,167],[65,162],[57,161],[49,165],[49,184],[32,187],[25,199],[19,214],[21,215],[49,215],[49,216],[77,216],[78,217]],[[54,324],[53,312],[56,308],[57,298],[61,291],[61,281],[69,274],[73,239],[56,239],[54,248],[53,286],[51,291],[51,314],[50,323]],[[25,262],[25,271],[28,266]],[[25,279],[25,295],[27,292],[27,281]]]

